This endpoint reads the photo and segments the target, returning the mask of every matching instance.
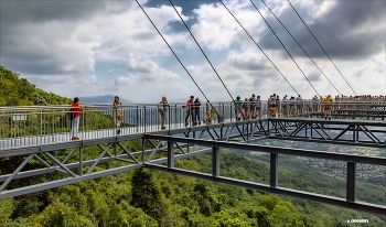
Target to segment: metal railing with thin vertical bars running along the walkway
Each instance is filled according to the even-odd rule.
[[[167,129],[194,127],[203,123],[221,123],[238,120],[258,120],[267,118],[323,118],[326,107],[332,111],[333,120],[383,121],[386,101],[311,101],[289,100],[276,102],[275,109],[268,101],[248,102],[245,108],[234,102],[202,102],[195,107],[192,117],[186,104],[169,104],[167,107]],[[116,137],[121,134],[144,133],[161,130],[159,104],[122,105],[124,120],[117,134],[115,110],[111,105],[81,106],[81,140]],[[71,140],[71,119],[68,106],[33,106],[0,108],[0,150],[60,143]],[[214,108],[216,114],[211,119],[208,114]],[[255,111],[251,111],[251,108]],[[221,116],[221,117],[219,117]],[[197,117],[197,118],[195,118]]]

